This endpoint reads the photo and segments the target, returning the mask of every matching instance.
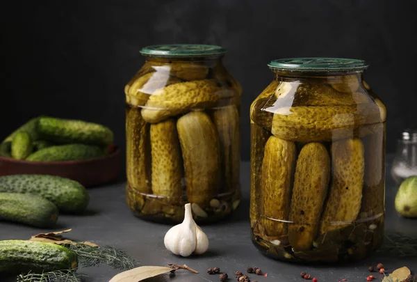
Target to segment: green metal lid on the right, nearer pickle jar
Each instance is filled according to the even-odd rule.
[[[289,72],[352,72],[368,68],[365,61],[353,58],[280,58],[268,66]]]

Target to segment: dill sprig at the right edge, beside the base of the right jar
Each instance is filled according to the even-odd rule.
[[[378,253],[394,253],[401,257],[417,256],[417,238],[393,233],[386,235],[385,239],[384,244],[377,250]]]

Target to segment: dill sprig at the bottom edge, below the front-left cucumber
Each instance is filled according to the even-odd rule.
[[[17,282],[81,282],[81,275],[75,270],[57,270],[42,274],[29,272],[17,276]]]

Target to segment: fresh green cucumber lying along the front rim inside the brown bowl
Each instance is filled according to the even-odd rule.
[[[30,162],[63,162],[104,157],[104,150],[98,146],[67,144],[52,146],[33,152],[26,160]]]

